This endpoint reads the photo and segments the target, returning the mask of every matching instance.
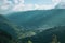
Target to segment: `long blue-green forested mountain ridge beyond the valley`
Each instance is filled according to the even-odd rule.
[[[65,9],[15,12],[5,16],[10,22],[25,28],[50,28],[65,25]]]

